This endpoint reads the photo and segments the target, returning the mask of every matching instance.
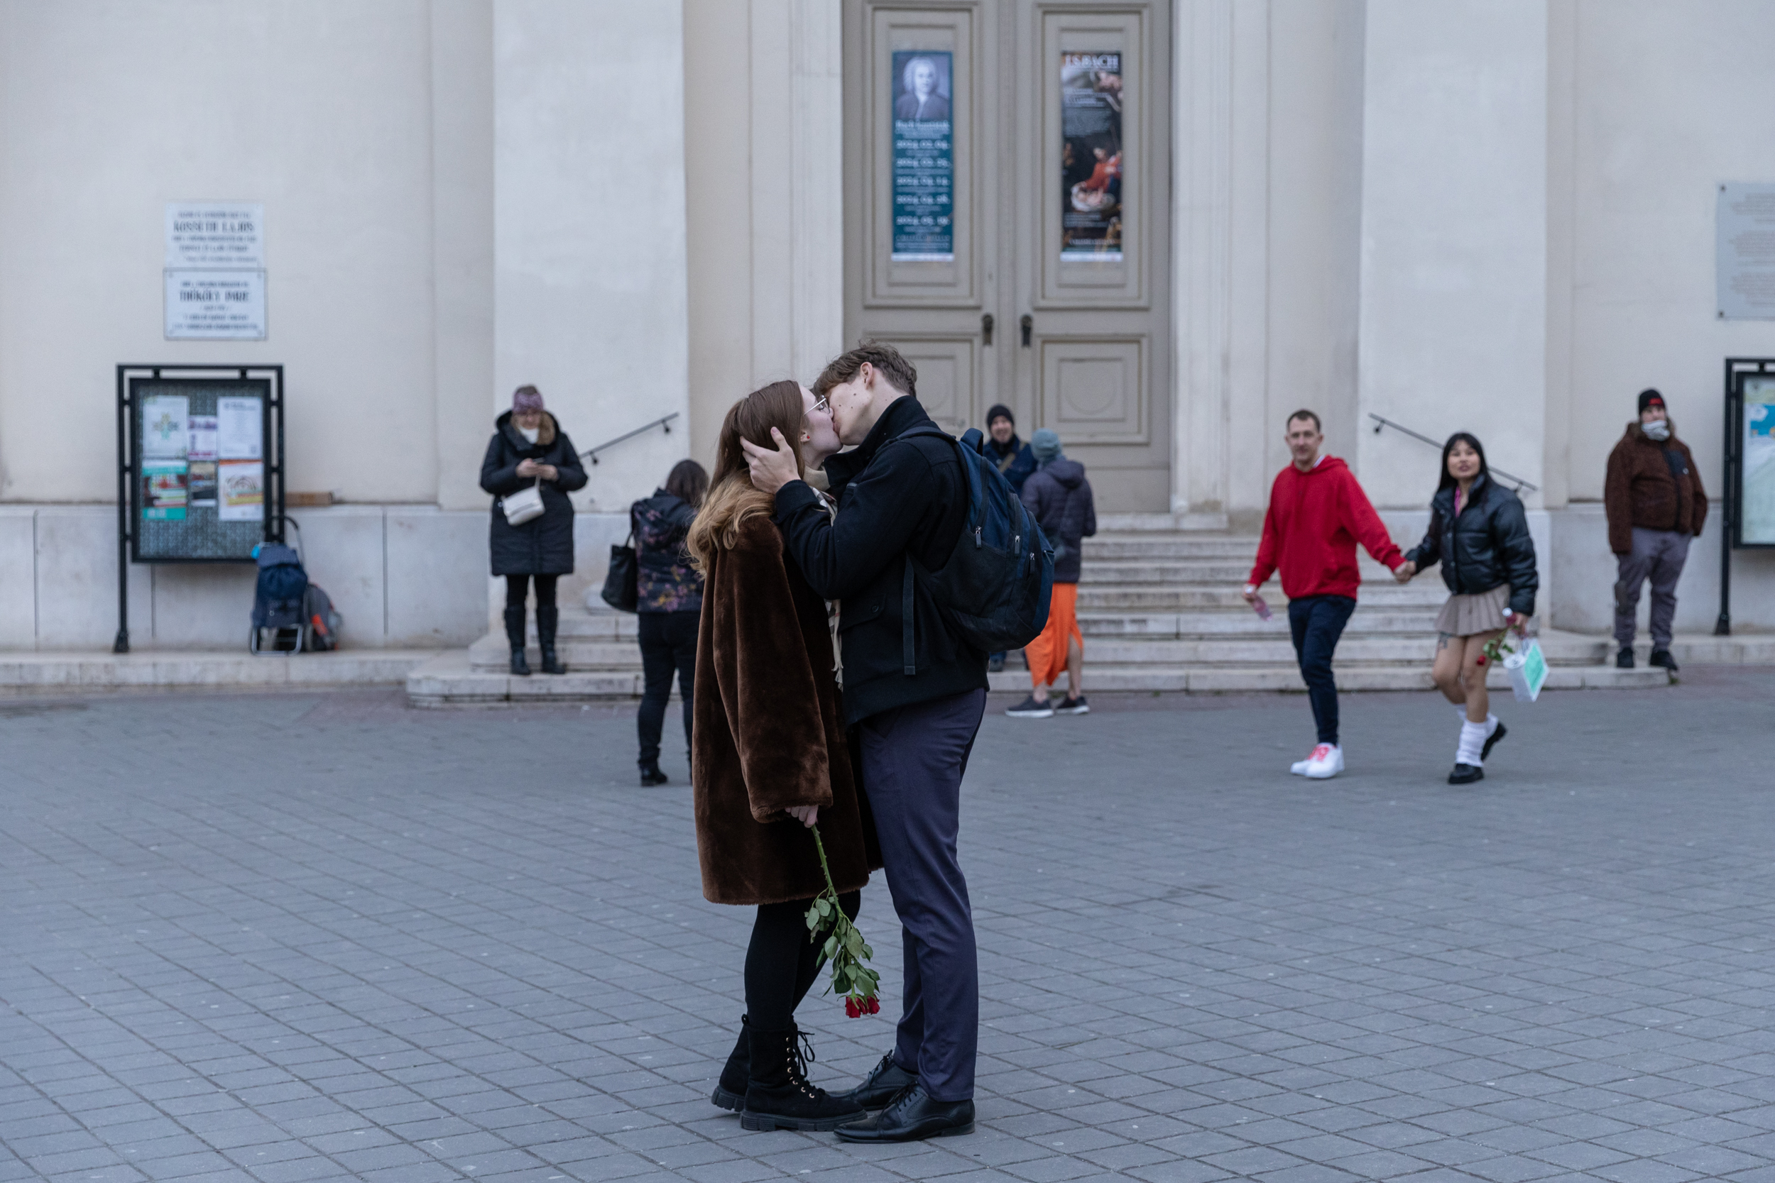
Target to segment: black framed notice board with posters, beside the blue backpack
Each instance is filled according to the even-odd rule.
[[[252,562],[284,539],[284,367],[117,367],[117,653],[126,562]]]

